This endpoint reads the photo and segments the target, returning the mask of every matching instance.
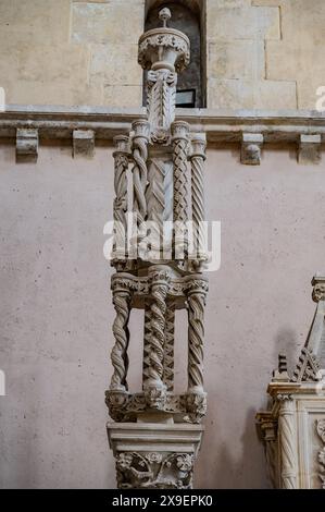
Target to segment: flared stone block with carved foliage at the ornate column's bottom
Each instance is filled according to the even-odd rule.
[[[118,489],[191,489],[204,428],[191,424],[108,423]]]

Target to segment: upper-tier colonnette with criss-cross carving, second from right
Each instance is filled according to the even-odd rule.
[[[189,125],[183,121],[176,121],[172,124],[173,141],[173,164],[174,164],[174,251],[177,259],[177,252],[182,255],[187,253],[187,230],[188,221],[188,190],[187,190],[187,156],[188,156],[188,133]],[[179,227],[184,232],[179,232]],[[182,231],[182,230],[180,230]],[[182,258],[180,258],[182,259]]]

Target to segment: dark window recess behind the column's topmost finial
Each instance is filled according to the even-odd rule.
[[[189,66],[178,75],[176,107],[205,107],[205,37],[204,0],[147,0],[145,31],[157,28],[158,13],[166,7],[172,11],[168,26],[184,32],[190,39]],[[146,105],[146,90],[143,90]]]

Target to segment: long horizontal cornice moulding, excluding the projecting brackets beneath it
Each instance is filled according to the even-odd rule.
[[[208,142],[241,142],[242,133],[259,133],[264,143],[297,142],[302,134],[320,134],[325,142],[325,113],[311,110],[177,109],[178,120],[192,132],[203,131]],[[127,132],[145,108],[8,106],[0,112],[0,137],[15,137],[16,129],[38,130],[40,139],[72,138],[74,130],[93,130],[97,139]]]

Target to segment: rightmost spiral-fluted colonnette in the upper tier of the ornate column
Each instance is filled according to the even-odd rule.
[[[203,221],[204,215],[204,183],[203,167],[205,160],[205,134],[196,134],[191,139],[191,207],[193,222],[193,251],[195,256],[202,258],[207,252],[207,241]]]

